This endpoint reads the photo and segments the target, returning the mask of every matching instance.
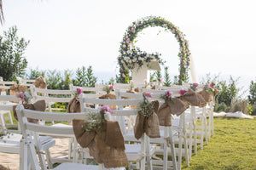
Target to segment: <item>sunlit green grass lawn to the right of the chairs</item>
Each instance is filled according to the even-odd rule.
[[[189,167],[183,161],[182,169],[256,170],[255,118],[215,117],[214,129],[209,144],[192,156]]]

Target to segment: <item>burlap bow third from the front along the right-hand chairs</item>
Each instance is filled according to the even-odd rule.
[[[180,116],[184,111],[189,108],[189,105],[181,99],[173,98],[172,101],[167,100],[160,106],[157,116],[160,126],[171,127],[172,115]]]

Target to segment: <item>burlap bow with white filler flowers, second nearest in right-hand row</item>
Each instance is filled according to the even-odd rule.
[[[134,126],[134,134],[136,139],[140,139],[143,133],[146,133],[149,138],[160,138],[160,123],[157,116],[159,108],[158,100],[152,102],[154,105],[154,111],[150,116],[142,116],[137,114],[136,122]]]

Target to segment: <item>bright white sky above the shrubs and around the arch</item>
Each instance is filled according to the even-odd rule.
[[[253,0],[3,0],[1,34],[17,26],[19,37],[30,40],[28,68],[76,70],[91,65],[114,77],[127,27],[149,15],[161,16],[186,35],[197,75],[254,77],[255,6]],[[179,47],[171,32],[144,29],[135,45],[162,54],[177,74]]]

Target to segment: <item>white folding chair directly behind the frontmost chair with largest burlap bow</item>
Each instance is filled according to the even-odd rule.
[[[125,138],[125,120],[124,116],[137,116],[138,110],[123,109],[125,105],[137,105],[142,101],[142,99],[93,99],[86,98],[83,94],[80,94],[80,105],[81,111],[98,111],[99,105],[117,105],[118,110],[113,110],[113,119],[119,121],[121,131]],[[95,104],[96,108],[87,107],[86,104]],[[144,170],[145,169],[145,156],[147,157],[147,166],[148,169],[152,169],[152,161],[149,158],[154,154],[154,146],[149,144],[148,136],[143,135],[141,144],[125,144],[125,153],[128,157],[128,161],[137,161],[137,168]]]

